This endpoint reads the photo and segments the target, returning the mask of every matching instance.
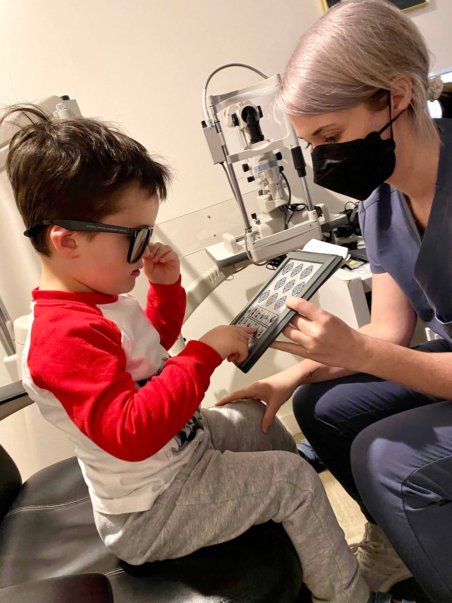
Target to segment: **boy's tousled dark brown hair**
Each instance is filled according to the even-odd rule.
[[[53,118],[31,104],[8,107],[0,125],[11,117],[20,125],[11,138],[6,169],[27,229],[58,218],[99,222],[120,210],[111,194],[132,182],[149,197],[165,200],[171,182],[168,166],[114,124]],[[50,256],[47,231],[30,240],[36,251]]]

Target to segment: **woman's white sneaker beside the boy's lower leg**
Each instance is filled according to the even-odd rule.
[[[373,523],[366,523],[361,542],[350,545],[356,555],[361,574],[373,592],[388,592],[394,584],[411,578],[386,534]]]

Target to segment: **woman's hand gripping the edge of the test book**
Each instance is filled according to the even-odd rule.
[[[359,370],[368,347],[366,335],[300,297],[288,297],[286,306],[298,313],[283,330],[294,343],[274,341],[272,348],[331,367]]]

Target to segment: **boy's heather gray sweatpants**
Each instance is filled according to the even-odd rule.
[[[262,433],[264,411],[256,400],[203,409],[196,452],[149,511],[95,512],[102,540],[137,565],[183,557],[272,519],[292,540],[313,601],[365,603],[368,586],[319,476],[278,419]]]

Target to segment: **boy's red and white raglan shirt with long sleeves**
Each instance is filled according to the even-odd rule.
[[[221,364],[200,341],[166,351],[185,312],[180,279],[150,284],[144,311],[130,294],[32,293],[25,390],[74,443],[97,511],[148,510],[201,441],[198,407]]]

